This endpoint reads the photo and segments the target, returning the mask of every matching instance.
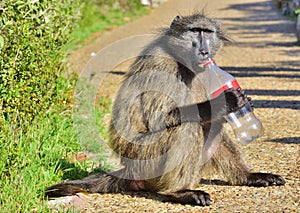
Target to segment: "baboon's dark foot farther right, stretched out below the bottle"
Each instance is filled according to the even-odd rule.
[[[280,175],[270,173],[250,173],[247,178],[247,186],[266,187],[281,186],[285,184],[285,180]]]

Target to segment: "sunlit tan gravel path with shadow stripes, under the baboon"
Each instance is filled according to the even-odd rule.
[[[75,52],[74,71],[80,72],[108,44],[133,35],[156,32],[178,14],[202,10],[220,18],[236,44],[216,58],[233,73],[254,100],[265,134],[242,147],[256,171],[281,174],[282,187],[253,188],[202,184],[211,194],[210,207],[163,203],[149,193],[93,194],[82,212],[300,212],[300,47],[295,46],[294,23],[281,17],[271,0],[169,0],[150,15],[107,32]],[[120,49],[122,51],[122,49]],[[113,97],[126,64],[108,75],[100,91]],[[220,177],[217,177],[220,178]]]

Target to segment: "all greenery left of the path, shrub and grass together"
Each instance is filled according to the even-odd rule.
[[[82,41],[144,13],[137,2],[0,2],[1,212],[51,212],[44,204],[45,188],[63,179],[82,178],[88,168],[94,169],[92,162],[70,160],[82,147],[72,119],[77,77],[65,76],[66,47],[70,40]],[[101,99],[95,110],[104,138],[101,123],[110,103]],[[107,168],[104,164],[98,170]]]

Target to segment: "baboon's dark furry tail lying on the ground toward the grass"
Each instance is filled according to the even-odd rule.
[[[46,189],[47,197],[62,197],[76,193],[117,193],[128,191],[130,180],[112,174],[96,174],[82,180],[55,184]]]

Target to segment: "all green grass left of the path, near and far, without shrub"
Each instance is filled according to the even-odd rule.
[[[146,13],[144,8],[125,12],[111,7],[105,10],[99,13],[98,6],[87,4],[73,40],[83,44],[94,32],[125,24]],[[110,112],[110,105],[111,100],[100,99],[95,113],[99,134],[105,140],[107,129],[102,121]],[[83,148],[78,143],[68,111],[49,112],[18,126],[14,126],[14,119],[0,121],[1,212],[52,212],[44,198],[47,186],[64,179],[85,177],[90,170],[109,169],[105,163],[96,169],[91,161],[70,162],[70,156],[83,151]]]

